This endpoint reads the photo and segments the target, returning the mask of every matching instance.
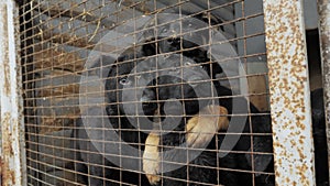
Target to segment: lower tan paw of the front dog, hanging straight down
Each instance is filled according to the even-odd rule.
[[[161,180],[160,173],[160,135],[151,132],[145,141],[145,149],[143,153],[143,171],[151,184],[157,184]]]

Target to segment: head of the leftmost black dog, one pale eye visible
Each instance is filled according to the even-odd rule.
[[[147,72],[136,70],[136,66],[142,62],[124,55],[120,57],[110,68],[107,80],[106,90],[109,105],[107,108],[110,116],[136,116],[142,114],[140,103],[155,98],[154,92],[145,90],[145,96],[142,98],[141,92],[144,91],[141,86],[143,79],[151,77]],[[142,63],[143,65],[143,63]],[[140,67],[140,70],[142,68]],[[140,95],[140,96],[139,96]],[[155,110],[155,105],[144,108],[145,114],[152,116]]]

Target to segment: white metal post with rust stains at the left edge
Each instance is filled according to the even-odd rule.
[[[0,118],[2,131],[2,185],[26,185],[19,41],[19,9],[13,0],[1,0]]]

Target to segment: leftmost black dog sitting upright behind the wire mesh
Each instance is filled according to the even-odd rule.
[[[110,123],[112,124],[112,130],[116,131],[116,133],[121,138],[123,142],[143,151],[144,146],[141,144],[144,144],[147,134],[141,131],[142,128],[139,130],[134,127],[134,124],[132,124],[132,122],[138,122],[138,117],[131,117],[131,119],[133,119],[134,121],[128,119],[127,114],[135,114],[133,113],[134,109],[129,109],[129,112],[125,113],[123,109],[124,102],[122,102],[122,100],[125,99],[121,97],[121,91],[123,90],[123,87],[130,86],[127,75],[130,74],[131,69],[133,69],[136,65],[136,62],[133,61],[131,61],[130,63],[122,63],[122,61],[127,61],[128,58],[131,58],[131,56],[124,55],[120,57],[113,66],[110,67],[108,79],[106,80],[106,97],[108,98],[108,105],[106,107],[106,110],[107,114],[109,116],[109,118],[107,119],[110,120]],[[108,56],[101,56],[98,61],[100,62],[97,63],[109,63],[112,61],[112,58]],[[130,106],[129,108],[132,107]],[[154,109],[152,109],[151,111],[152,112],[146,111],[147,114],[153,114]],[[92,114],[92,109],[90,110],[89,114]],[[141,118],[141,122],[143,122],[143,120],[144,119]],[[102,122],[101,120],[99,121],[100,123]],[[150,129],[152,129],[152,127],[150,127]],[[111,154],[113,152],[112,149],[107,149],[105,151],[106,154],[109,154],[107,158],[99,152],[100,150],[95,146],[95,143],[98,142],[91,142],[91,140],[99,139],[99,136],[102,136],[103,134],[101,130],[97,134],[99,136],[92,136],[91,139],[88,135],[87,130],[88,129],[84,128],[82,120],[78,120],[77,130],[75,132],[75,135],[77,136],[76,146],[80,151],[85,152],[79,153],[79,155],[77,156],[81,160],[81,162],[85,162],[85,165],[79,164],[79,172],[90,175],[88,176],[88,183],[86,183],[87,185],[148,185],[148,180],[146,179],[145,175],[139,173],[139,167],[136,168],[138,171],[123,169],[122,167],[118,166],[118,164],[111,162],[108,158],[119,158],[118,152]],[[97,131],[97,129],[95,129],[94,131]],[[107,143],[112,143],[112,141],[99,142],[100,146],[102,145],[102,143],[106,145]],[[119,142],[116,141],[113,143],[118,144]],[[139,158],[139,156],[134,157]],[[124,158],[122,160],[124,161]]]

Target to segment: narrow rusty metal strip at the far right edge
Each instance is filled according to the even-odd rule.
[[[330,0],[318,0],[328,162],[330,165]],[[330,175],[329,175],[330,178]],[[330,182],[330,180],[329,180]]]

